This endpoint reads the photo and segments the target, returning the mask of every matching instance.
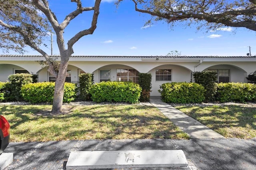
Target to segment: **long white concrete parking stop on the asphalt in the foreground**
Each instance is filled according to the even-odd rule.
[[[182,150],[111,150],[71,152],[66,169],[187,167]]]

